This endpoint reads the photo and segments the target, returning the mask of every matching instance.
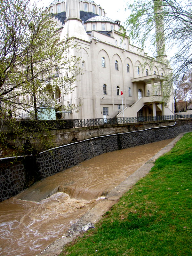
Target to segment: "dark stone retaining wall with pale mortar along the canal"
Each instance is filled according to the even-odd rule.
[[[175,138],[181,132],[189,131],[192,131],[192,120],[167,122],[167,126],[155,128],[148,124],[144,130],[99,136],[53,148],[37,156],[0,159],[0,201],[94,156]]]

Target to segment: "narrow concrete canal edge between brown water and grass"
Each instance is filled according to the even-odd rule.
[[[63,234],[63,236],[49,245],[43,252],[38,255],[57,256],[62,251],[63,247],[73,241],[77,236],[81,235],[86,228],[94,227],[94,224],[102,218],[102,215],[115,204],[118,199],[141,178],[143,178],[154,166],[154,162],[164,153],[169,152],[175,143],[180,140],[184,133],[180,133],[171,143],[161,149],[149,161],[143,164],[137,171],[125,179],[121,184],[114,188],[103,201],[98,203],[94,208],[81,217],[71,228]]]

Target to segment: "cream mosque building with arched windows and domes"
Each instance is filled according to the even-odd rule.
[[[78,112],[62,113],[64,119],[173,115],[172,95],[164,84],[171,69],[165,55],[151,58],[130,44],[119,20],[112,20],[92,0],[56,0],[46,11],[52,14],[60,41],[73,38],[77,47],[64,58],[80,57],[82,75],[73,90],[61,90],[58,106],[81,105]],[[58,76],[70,76],[62,70]]]

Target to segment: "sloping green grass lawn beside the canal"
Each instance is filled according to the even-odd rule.
[[[192,133],[187,133],[95,229],[60,256],[192,255],[191,167]]]

